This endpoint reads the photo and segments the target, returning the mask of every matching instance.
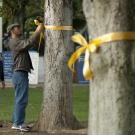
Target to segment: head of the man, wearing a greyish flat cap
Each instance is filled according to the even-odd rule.
[[[21,27],[19,23],[11,24],[7,27],[7,32],[11,34],[11,36],[19,37],[22,34]]]

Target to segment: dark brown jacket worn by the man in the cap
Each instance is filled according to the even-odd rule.
[[[31,72],[33,66],[28,49],[34,45],[38,36],[39,33],[36,33],[29,39],[11,38],[9,40],[8,46],[12,52],[14,71],[21,70]]]

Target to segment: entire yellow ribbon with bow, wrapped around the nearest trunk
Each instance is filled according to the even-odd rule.
[[[120,41],[120,40],[135,40],[135,32],[114,32],[105,34],[98,38],[95,38],[89,43],[85,40],[85,38],[81,34],[76,34],[72,36],[72,40],[81,45],[81,47],[76,50],[68,61],[68,67],[71,71],[74,72],[73,64],[80,57],[80,55],[85,51],[85,59],[83,66],[83,75],[85,80],[90,80],[92,78],[92,71],[90,69],[90,53],[96,52],[99,46],[103,43],[112,42],[112,41]]]

